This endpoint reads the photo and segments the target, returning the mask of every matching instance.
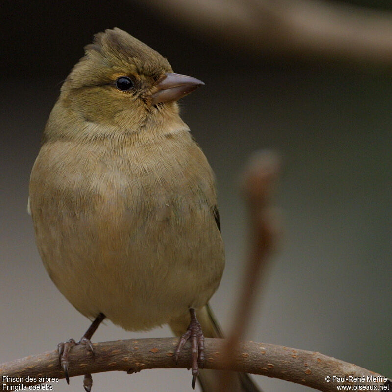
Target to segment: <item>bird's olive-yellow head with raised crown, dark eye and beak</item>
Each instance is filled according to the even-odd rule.
[[[140,132],[175,123],[176,118],[181,122],[176,101],[203,84],[173,73],[166,58],[115,28],[96,34],[85,47],[84,57],[61,88],[59,102],[78,123]]]

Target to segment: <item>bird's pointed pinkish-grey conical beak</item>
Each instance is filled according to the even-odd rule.
[[[155,85],[158,91],[152,94],[152,104],[178,101],[203,84],[194,77],[167,72]]]

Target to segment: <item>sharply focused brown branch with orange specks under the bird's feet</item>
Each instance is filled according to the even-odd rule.
[[[189,345],[176,365],[173,351],[177,338],[138,339],[95,343],[95,357],[83,346],[75,346],[70,354],[70,376],[104,371],[137,372],[152,368],[189,368],[191,353]],[[226,344],[223,339],[206,339],[205,368],[223,369],[221,353]],[[246,342],[240,343],[233,352],[234,361],[229,370],[261,374],[280,378],[320,391],[336,392],[337,385],[373,385],[380,390],[388,385],[380,374],[356,365],[327,357],[319,352],[298,350],[272,344]],[[325,381],[326,377],[347,377],[346,381]],[[350,381],[348,377],[365,377],[364,382]],[[64,378],[60,368],[57,351],[45,352],[0,365],[0,377],[4,389],[6,385],[35,385],[38,382],[24,382],[27,377]],[[7,382],[4,377],[21,377],[22,382]],[[374,381],[368,381],[372,377]],[[374,379],[373,379],[374,377]],[[391,385],[391,384],[389,384]],[[5,388],[6,389],[6,388]]]

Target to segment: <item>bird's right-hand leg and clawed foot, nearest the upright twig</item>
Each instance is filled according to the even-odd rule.
[[[184,344],[187,340],[191,339],[192,347],[192,388],[195,389],[196,377],[199,375],[199,365],[203,368],[204,364],[204,335],[201,329],[201,325],[196,318],[196,311],[193,308],[189,309],[191,314],[191,322],[188,326],[187,331],[181,335],[180,341],[178,342],[175,350],[175,362],[178,361],[178,356],[181,353]]]

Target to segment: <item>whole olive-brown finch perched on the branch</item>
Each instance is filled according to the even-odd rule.
[[[92,324],[69,352],[93,351],[103,319],[128,331],[169,324],[175,357],[192,344],[196,377],[204,336],[222,337],[211,296],[224,269],[214,173],[177,101],[204,83],[173,73],[157,51],[119,29],[94,36],[64,81],[29,183],[28,209],[49,277]],[[215,374],[215,375],[214,375]],[[238,373],[232,391],[258,391]],[[91,390],[91,374],[84,377]]]

